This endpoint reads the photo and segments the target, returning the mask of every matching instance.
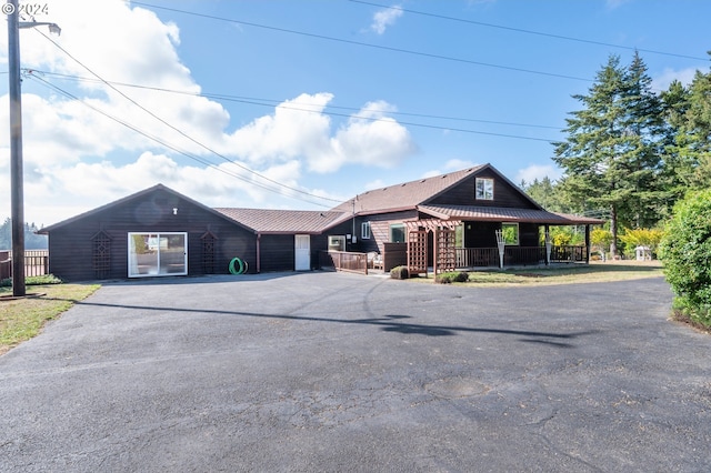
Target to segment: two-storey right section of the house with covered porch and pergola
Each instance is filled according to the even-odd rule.
[[[385,271],[407,264],[423,272],[442,253],[448,269],[498,266],[499,240],[507,265],[587,262],[589,227],[604,223],[545,211],[490,164],[368,191],[333,210],[350,212],[352,223],[329,233],[352,233],[349,251],[384,253]],[[542,240],[551,225],[583,225],[584,248],[551,248],[549,255]],[[400,256],[389,261],[388,250]]]

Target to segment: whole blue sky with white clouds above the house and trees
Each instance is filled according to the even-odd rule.
[[[62,28],[20,39],[38,224],[159,182],[212,207],[324,209],[485,162],[555,179],[550,141],[610,54],[639,49],[661,90],[708,71],[711,49],[701,0],[28,4]],[[0,73],[0,218],[7,90]]]

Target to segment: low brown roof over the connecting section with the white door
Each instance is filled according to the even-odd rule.
[[[258,233],[320,233],[343,218],[343,212],[216,208],[222,215]],[[349,217],[349,215],[347,215]]]

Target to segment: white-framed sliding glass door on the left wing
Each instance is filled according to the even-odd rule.
[[[129,278],[188,274],[188,233],[129,233]]]

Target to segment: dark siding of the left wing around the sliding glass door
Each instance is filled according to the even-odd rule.
[[[173,209],[178,209],[176,214]],[[129,232],[187,232],[188,274],[204,274],[201,236],[208,230],[217,236],[216,273],[228,273],[234,256],[246,260],[250,272],[256,271],[257,240],[252,232],[164,190],[156,190],[51,230],[50,271],[66,281],[97,279],[92,236],[103,231],[111,239],[110,270],[104,278],[126,279]]]

